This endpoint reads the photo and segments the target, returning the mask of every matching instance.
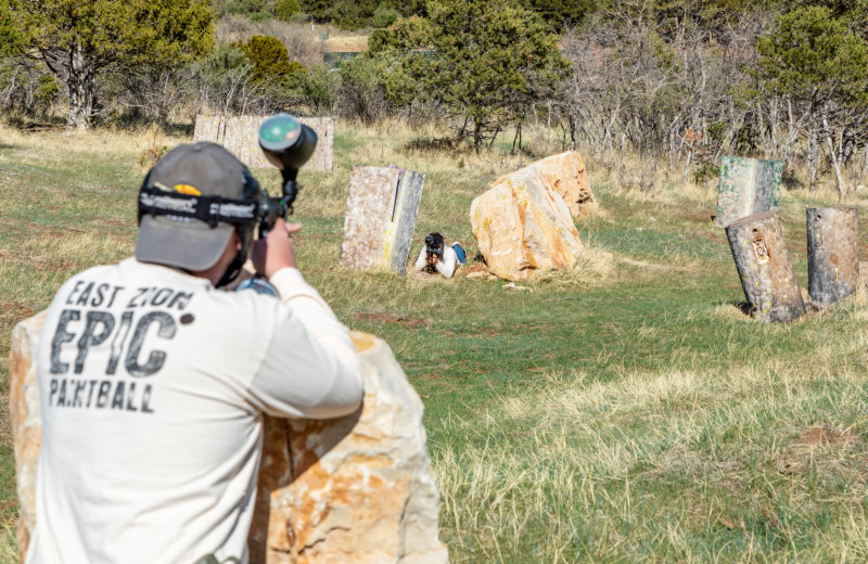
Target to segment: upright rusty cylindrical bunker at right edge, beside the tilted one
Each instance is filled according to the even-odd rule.
[[[807,287],[824,306],[856,291],[859,283],[859,228],[855,207],[809,207]]]

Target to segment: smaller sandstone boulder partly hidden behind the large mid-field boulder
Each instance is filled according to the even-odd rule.
[[[560,195],[573,217],[586,215],[597,208],[597,200],[588,183],[585,161],[582,159],[578,151],[567,151],[537,161],[515,172],[501,176],[492,185],[497,185],[520,172],[535,175],[542,185]]]

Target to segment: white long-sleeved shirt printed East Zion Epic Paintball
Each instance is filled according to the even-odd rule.
[[[295,269],[281,299],[127,259],[66,282],[37,352],[42,446],[27,562],[247,561],[261,413],[361,402],[346,328]]]

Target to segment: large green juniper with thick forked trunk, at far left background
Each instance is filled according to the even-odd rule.
[[[182,65],[214,49],[207,0],[7,1],[22,52],[64,86],[69,127],[88,127],[105,75]]]

